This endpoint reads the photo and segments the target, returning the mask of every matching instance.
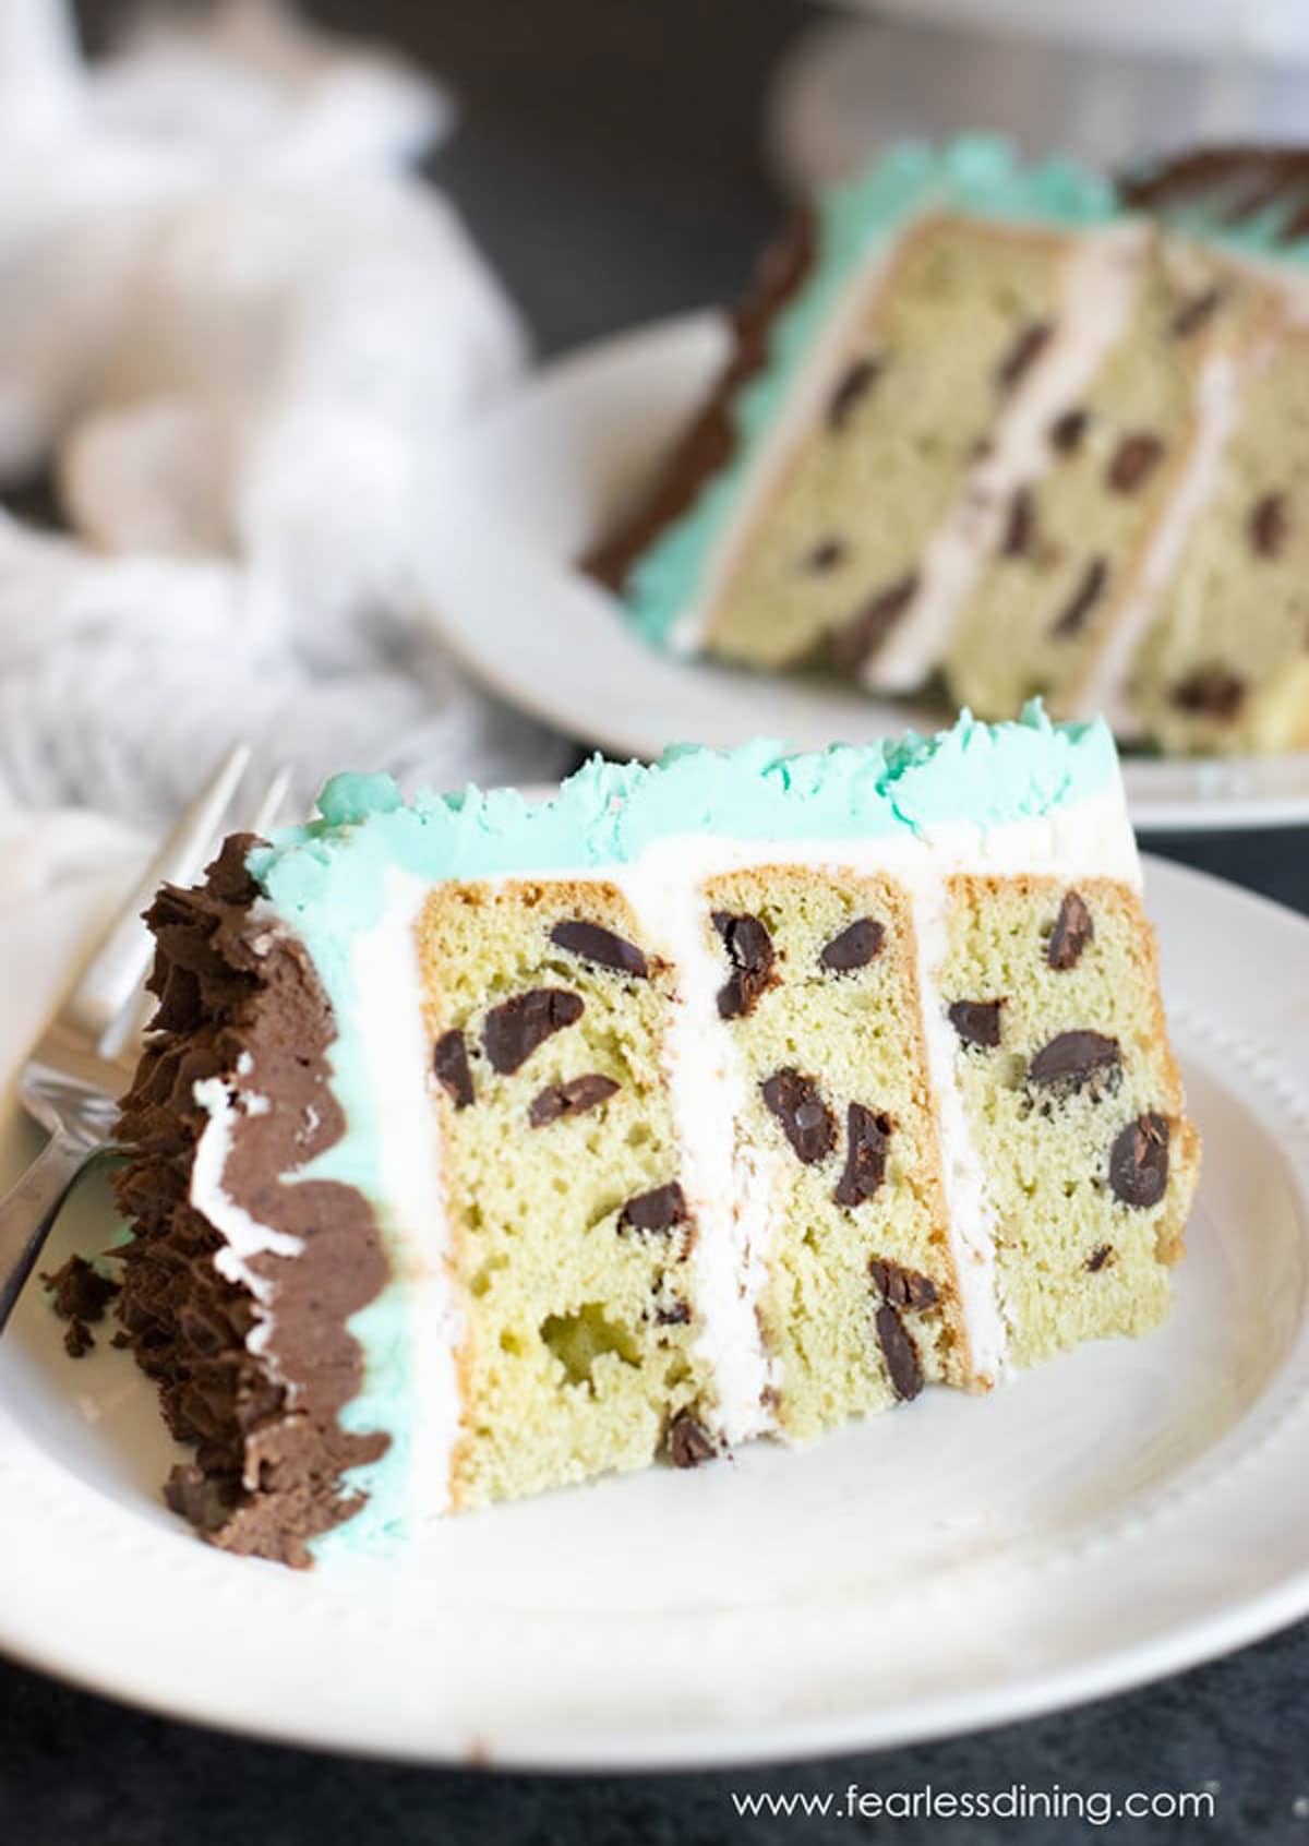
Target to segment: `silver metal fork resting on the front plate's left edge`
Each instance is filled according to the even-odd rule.
[[[118,1097],[131,1082],[148,1017],[142,982],[153,945],[140,912],[161,884],[196,881],[247,768],[249,746],[236,744],[198,790],[18,1073],[18,1098],[50,1141],[0,1200],[0,1331],[68,1193],[113,1145]],[[279,770],[247,821],[251,833],[273,825],[286,785],[288,772]]]

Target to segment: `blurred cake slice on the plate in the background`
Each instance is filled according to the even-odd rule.
[[[980,137],[897,148],[770,255],[709,406],[589,569],[681,652],[943,676],[988,718],[1041,694],[1165,748],[1309,742],[1283,543],[1309,428],[1278,382],[1303,273],[1278,251]]]

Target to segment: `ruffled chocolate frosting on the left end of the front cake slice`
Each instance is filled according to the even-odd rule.
[[[332,1146],[345,1121],[329,1087],[336,1026],[318,977],[290,936],[249,914],[253,844],[229,840],[205,886],[164,888],[146,917],[159,1012],[122,1104],[129,1165],[118,1202],[135,1237],[118,1314],[168,1427],[196,1449],[194,1462],[174,1468],[168,1504],[214,1545],[305,1565],[306,1540],[358,1510],[342,1471],[388,1444],[338,1423],[362,1383],[347,1320],[378,1294],[388,1265],[356,1191],[281,1180]],[[223,1239],[188,1200],[209,1121],[194,1085],[234,1080],[244,1058],[251,1087],[273,1106],[238,1117],[223,1185],[255,1220],[303,1239],[295,1257],[249,1263],[273,1287],[258,1355],[246,1346],[255,1298],[214,1268]]]

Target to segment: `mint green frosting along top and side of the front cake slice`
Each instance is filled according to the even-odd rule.
[[[388,1218],[351,965],[358,934],[382,919],[391,869],[432,884],[602,873],[639,858],[655,840],[687,833],[763,842],[894,838],[949,821],[990,831],[1073,807],[1115,779],[1113,738],[1100,720],[1054,725],[1038,703],[1015,724],[979,724],[964,713],[938,737],[833,744],[812,755],[759,740],[731,751],[676,748],[652,766],[594,757],[548,801],[467,788],[406,803],[388,775],[336,775],[323,788],[318,820],[247,857],[264,899],[305,943],[336,1015],[330,1082],[347,1128],[297,1178],[358,1187],[401,1255],[404,1226]],[[364,1388],[342,1414],[347,1429],[384,1429],[391,1444],[378,1462],[354,1471],[367,1501],[345,1527],[318,1540],[319,1552],[384,1543],[402,1530],[410,1342],[419,1329],[402,1263],[393,1270],[395,1279],[351,1322],[364,1349]]]

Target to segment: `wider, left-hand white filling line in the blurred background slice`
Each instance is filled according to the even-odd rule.
[[[864,685],[912,692],[943,657],[958,611],[999,548],[1014,495],[1054,462],[1051,425],[1076,404],[1128,327],[1148,236],[1126,223],[1078,238],[1063,264],[1054,334],[997,419],[991,452],[929,541],[914,600],[864,666]]]

